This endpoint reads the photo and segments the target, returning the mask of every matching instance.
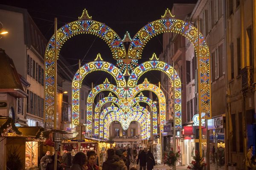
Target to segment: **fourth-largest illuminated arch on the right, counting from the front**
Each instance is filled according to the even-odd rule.
[[[157,135],[157,107],[156,105],[154,104],[154,102],[148,98],[148,97],[145,97],[145,96],[138,96],[138,97],[135,97],[133,99],[133,105],[136,105],[137,103],[139,102],[144,102],[144,103],[147,103],[151,109],[151,112],[152,112],[152,122],[153,122],[153,135]]]

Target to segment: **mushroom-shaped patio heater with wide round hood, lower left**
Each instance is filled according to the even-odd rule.
[[[72,134],[70,132],[67,132],[65,130],[58,130],[58,129],[52,129],[48,131],[49,133],[52,133],[52,142],[54,142],[54,170],[57,170],[57,154],[59,149],[59,144],[63,140],[63,134]]]

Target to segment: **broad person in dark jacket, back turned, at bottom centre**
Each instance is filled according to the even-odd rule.
[[[128,170],[125,162],[115,155],[115,150],[107,150],[108,158],[102,165],[102,170]]]

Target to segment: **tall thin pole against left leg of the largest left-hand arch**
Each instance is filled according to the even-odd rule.
[[[57,120],[57,18],[54,20],[54,120],[53,128],[56,129]]]

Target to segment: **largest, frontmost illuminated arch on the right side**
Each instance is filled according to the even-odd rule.
[[[186,37],[194,46],[198,59],[198,88],[199,110],[205,113],[206,119],[211,119],[211,83],[210,83],[210,55],[209,47],[204,36],[192,24],[173,18],[169,9],[166,10],[162,19],[148,23],[131,40],[128,48],[128,59],[140,59],[143,48],[148,40],[157,34],[175,32]],[[177,127],[177,126],[176,126]]]

